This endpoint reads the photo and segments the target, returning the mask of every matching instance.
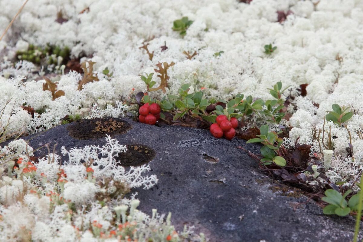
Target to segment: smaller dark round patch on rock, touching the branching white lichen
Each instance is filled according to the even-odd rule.
[[[141,166],[155,158],[155,151],[146,145],[126,145],[127,152],[116,157],[121,166]]]

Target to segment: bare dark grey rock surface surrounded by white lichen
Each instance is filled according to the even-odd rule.
[[[289,187],[278,184],[257,169],[243,150],[258,152],[259,147],[245,141],[215,139],[207,130],[178,126],[156,126],[129,121],[132,129],[115,134],[120,144],[141,144],[154,149],[150,161],[159,178],[151,190],[138,190],[139,209],[151,213],[172,212],[172,222],[178,230],[184,224],[195,225],[213,242],[280,242],[280,241],[351,241],[354,218],[339,218],[322,214],[314,202]],[[72,124],[69,124],[72,125]],[[62,125],[33,136],[25,137],[29,145],[38,148],[46,143],[50,149],[57,144],[67,149],[84,145],[102,145],[104,138],[77,140],[68,135]],[[37,156],[48,153],[46,148]],[[285,195],[281,195],[284,190]],[[287,190],[287,191],[286,191]],[[286,193],[290,194],[286,196]]]

